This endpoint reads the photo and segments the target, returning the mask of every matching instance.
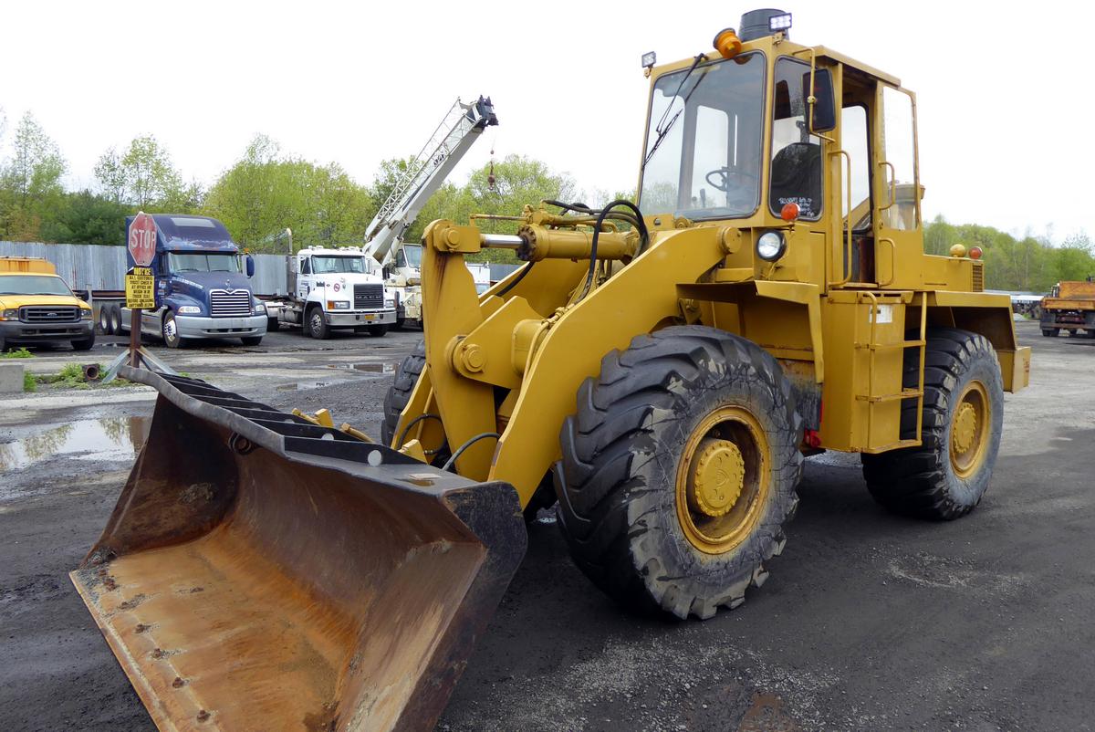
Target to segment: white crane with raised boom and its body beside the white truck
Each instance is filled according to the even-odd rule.
[[[365,251],[383,267],[397,325],[406,321],[422,325],[422,247],[404,244],[403,235],[483,130],[497,124],[489,96],[471,104],[458,99],[366,229]]]

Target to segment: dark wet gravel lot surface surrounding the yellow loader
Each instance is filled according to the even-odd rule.
[[[439,729],[1091,730],[1095,677],[1095,340],[1042,339],[1006,397],[992,488],[932,524],[871,500],[858,459],[807,461],[765,585],[706,622],[622,614],[542,512],[529,553]],[[376,433],[391,369],[420,334],[164,354],[280,408]],[[91,354],[44,352],[36,371]],[[0,729],[153,730],[66,576],[102,530],[154,392],[43,389],[0,403]]]

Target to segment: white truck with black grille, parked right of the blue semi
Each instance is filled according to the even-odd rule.
[[[289,293],[267,300],[269,330],[293,325],[325,339],[333,329],[383,335],[395,323],[394,296],[360,247],[306,247],[286,260]]]

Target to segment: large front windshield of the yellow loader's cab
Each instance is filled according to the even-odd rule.
[[[690,219],[752,214],[760,203],[763,118],[758,52],[659,78],[639,207]]]

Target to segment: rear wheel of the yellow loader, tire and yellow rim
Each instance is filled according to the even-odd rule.
[[[919,354],[906,351],[904,387],[919,382]],[[919,447],[863,455],[875,501],[915,518],[965,516],[989,488],[1000,449],[1004,388],[1000,362],[983,335],[955,328],[927,332],[924,408]],[[917,400],[901,408],[901,436],[917,428]]]

